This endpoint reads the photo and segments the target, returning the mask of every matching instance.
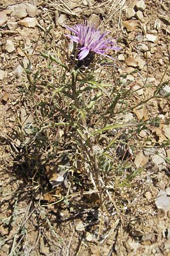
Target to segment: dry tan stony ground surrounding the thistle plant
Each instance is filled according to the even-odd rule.
[[[0,0],[1,255],[170,255],[169,13],[168,0]],[[112,213],[106,211],[102,221],[98,198],[90,199],[91,209],[80,195],[76,208],[75,202],[56,203],[52,194],[37,192],[38,181],[17,167],[22,143],[16,127],[21,122],[28,129],[33,120],[31,103],[28,115],[23,96],[24,68],[31,63],[54,83],[59,75],[49,77],[40,52],[57,52],[64,24],[84,19],[111,31],[122,47],[116,76],[134,94],[128,112],[116,118],[152,121],[128,141],[136,147],[131,158],[141,171],[130,187],[114,189]],[[41,90],[37,97],[48,99],[48,93]],[[47,173],[44,179],[53,180]]]

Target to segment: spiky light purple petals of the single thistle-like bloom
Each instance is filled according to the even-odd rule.
[[[98,28],[92,24],[78,24],[73,28],[65,26],[74,35],[66,35],[72,41],[78,44],[78,58],[83,60],[90,52],[99,53],[113,59],[111,56],[105,54],[111,49],[119,51],[121,48],[117,47],[116,39],[105,38],[108,32],[102,33]]]

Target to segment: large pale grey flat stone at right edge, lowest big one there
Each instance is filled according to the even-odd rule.
[[[158,209],[169,210],[170,209],[170,198],[167,193],[163,190],[159,191],[155,199],[155,205]]]

